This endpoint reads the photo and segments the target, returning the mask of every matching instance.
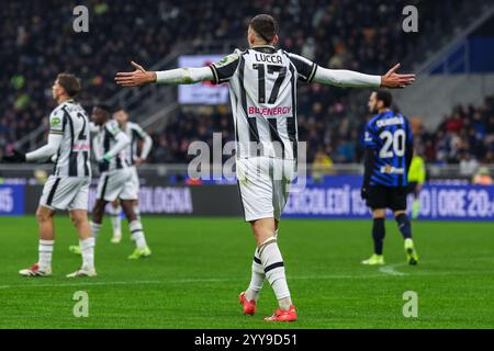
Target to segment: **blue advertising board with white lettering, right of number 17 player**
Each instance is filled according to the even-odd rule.
[[[285,217],[369,218],[360,197],[361,177],[335,176],[291,194]],[[408,197],[408,208],[412,207]],[[494,220],[494,186],[425,185],[420,192],[420,219]]]

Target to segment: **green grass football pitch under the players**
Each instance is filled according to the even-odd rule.
[[[56,218],[54,276],[24,279],[37,260],[34,217],[0,218],[0,328],[492,328],[492,223],[414,223],[420,254],[404,264],[403,239],[388,220],[386,265],[369,268],[370,222],[283,220],[280,247],[299,320],[267,324],[276,308],[265,284],[254,317],[237,302],[250,279],[254,239],[242,219],[144,217],[150,259],[131,262],[128,231],[110,244],[106,218],[97,246],[96,279],[68,280],[80,258],[76,233]],[[123,223],[124,228],[126,224]],[[76,318],[77,291],[89,317]],[[403,316],[403,294],[418,294],[418,318]]]

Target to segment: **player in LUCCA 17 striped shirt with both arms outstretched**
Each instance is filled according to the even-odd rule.
[[[146,71],[132,63],[133,72],[119,72],[122,87],[147,83],[228,83],[237,141],[237,178],[245,218],[257,248],[249,287],[239,296],[244,313],[254,315],[265,279],[271,284],[279,308],[267,321],[296,320],[284,262],[278,247],[278,226],[287,204],[297,160],[296,83],[318,82],[337,87],[404,88],[413,75],[369,76],[317,66],[299,55],[276,48],[278,25],[268,14],[255,16],[247,31],[249,48],[203,68]]]

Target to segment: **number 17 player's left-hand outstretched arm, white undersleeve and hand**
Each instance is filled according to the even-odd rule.
[[[164,71],[147,71],[141,65],[132,61],[135,70],[117,72],[115,82],[122,87],[141,87],[150,83],[193,84],[205,80],[213,80],[213,71],[209,67],[177,68]]]

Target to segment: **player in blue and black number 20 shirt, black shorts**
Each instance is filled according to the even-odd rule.
[[[393,98],[389,91],[378,90],[369,99],[369,110],[377,115],[366,126],[364,176],[362,199],[372,210],[374,253],[362,264],[384,264],[383,241],[386,208],[393,211],[405,239],[405,254],[409,264],[418,263],[412,240],[412,225],[406,214],[408,170],[414,141],[408,120],[391,110]]]

